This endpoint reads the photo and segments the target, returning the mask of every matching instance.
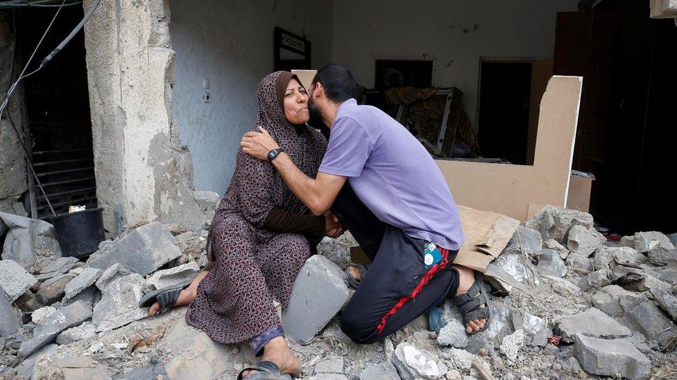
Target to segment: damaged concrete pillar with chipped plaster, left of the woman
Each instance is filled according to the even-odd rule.
[[[92,1],[84,2],[85,10]],[[101,1],[85,25],[96,196],[105,227],[202,223],[192,163],[171,120],[174,51],[162,0]]]

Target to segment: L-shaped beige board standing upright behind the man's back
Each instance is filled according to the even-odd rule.
[[[565,207],[582,83],[581,77],[549,80],[540,102],[533,165],[437,160],[456,203],[519,221],[527,220],[529,205]]]

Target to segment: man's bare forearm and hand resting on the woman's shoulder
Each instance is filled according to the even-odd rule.
[[[247,132],[240,143],[242,152],[254,156],[259,160],[268,161],[268,152],[277,149],[275,140],[266,129],[259,127],[261,133]],[[345,183],[345,177],[318,172],[317,178],[312,179],[296,168],[286,153],[280,153],[273,160],[273,166],[280,173],[284,182],[291,191],[315,215],[323,215],[334,203],[336,194]]]

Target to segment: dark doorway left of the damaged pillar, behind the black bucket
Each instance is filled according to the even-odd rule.
[[[53,8],[15,12],[17,46],[24,62],[33,53],[54,12]],[[63,8],[35,53],[28,72],[36,69],[40,60],[82,18],[82,8]],[[26,78],[23,84],[33,166],[55,212],[68,212],[69,206],[96,207],[92,121],[89,115],[83,31],[80,30],[49,64]],[[50,217],[49,206],[39,188],[35,194],[37,217]]]

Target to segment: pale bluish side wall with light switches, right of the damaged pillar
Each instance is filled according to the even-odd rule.
[[[305,35],[321,67],[331,62],[332,1],[170,0],[170,8],[172,116],[193,155],[196,188],[223,195],[256,118],[257,85],[273,71],[273,27]],[[203,78],[211,103],[203,102]]]

